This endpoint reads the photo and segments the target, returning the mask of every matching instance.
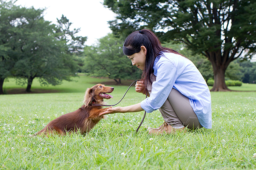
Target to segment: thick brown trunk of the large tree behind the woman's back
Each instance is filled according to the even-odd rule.
[[[216,63],[212,63],[213,74],[214,74],[214,84],[210,91],[231,91],[227,88],[225,83],[225,70],[223,66],[216,66]]]

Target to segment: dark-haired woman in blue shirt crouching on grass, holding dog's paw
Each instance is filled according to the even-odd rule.
[[[123,53],[134,66],[143,70],[143,79],[137,81],[135,91],[149,97],[132,106],[108,109],[101,115],[143,110],[150,113],[159,109],[164,123],[158,128],[149,128],[150,134],[186,131],[185,127],[212,127],[210,91],[190,60],[175,50],[162,47],[156,35],[146,29],[127,37]]]

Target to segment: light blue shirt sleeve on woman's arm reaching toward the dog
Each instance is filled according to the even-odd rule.
[[[162,107],[178,77],[177,68],[170,61],[159,61],[155,67],[156,81],[152,83],[150,97],[141,102],[141,107],[148,113]]]

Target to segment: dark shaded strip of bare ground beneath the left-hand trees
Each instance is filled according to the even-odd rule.
[[[32,94],[32,93],[58,93],[58,90],[49,90],[49,89],[31,89],[31,92],[26,92],[26,89],[8,89],[6,94]]]

